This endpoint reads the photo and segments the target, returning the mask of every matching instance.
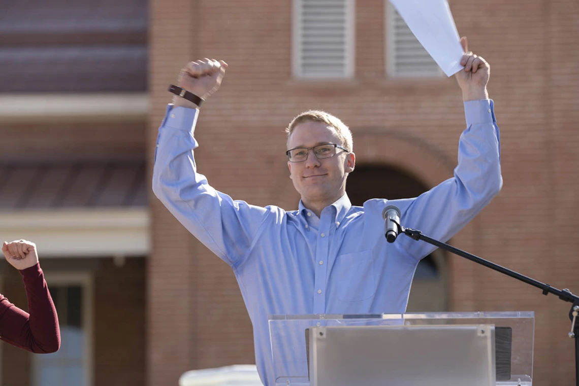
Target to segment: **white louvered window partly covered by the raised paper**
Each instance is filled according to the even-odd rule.
[[[434,59],[416,39],[404,19],[386,0],[388,49],[387,73],[391,77],[438,77],[444,75]]]

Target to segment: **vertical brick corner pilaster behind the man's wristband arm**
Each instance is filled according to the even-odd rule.
[[[152,162],[156,132],[167,101],[167,86],[196,49],[197,2],[149,2],[148,161]],[[152,91],[154,90],[154,91]],[[161,103],[163,101],[163,103]],[[149,180],[149,186],[150,181]],[[152,191],[149,188],[149,194]],[[156,200],[151,202],[152,253],[147,261],[148,314],[146,384],[177,384],[181,373],[193,368],[197,354],[197,259],[192,236]],[[201,351],[202,352],[202,351]]]

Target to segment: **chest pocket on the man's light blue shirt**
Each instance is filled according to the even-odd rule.
[[[372,251],[339,255],[335,266],[338,276],[338,299],[360,302],[372,298],[376,292]]]

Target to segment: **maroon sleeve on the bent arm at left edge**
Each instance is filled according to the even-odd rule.
[[[7,343],[39,354],[57,351],[60,348],[58,316],[40,264],[20,273],[30,314],[0,295],[0,337]]]

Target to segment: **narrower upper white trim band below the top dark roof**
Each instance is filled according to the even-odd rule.
[[[146,92],[105,94],[0,94],[2,121],[47,118],[146,118]]]

